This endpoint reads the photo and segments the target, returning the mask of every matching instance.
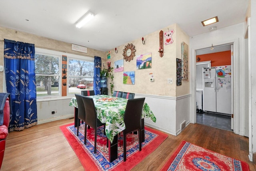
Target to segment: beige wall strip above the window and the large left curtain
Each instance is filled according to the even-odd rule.
[[[58,40],[53,40],[50,38],[45,38],[42,36],[37,36],[34,34],[20,32],[9,28],[0,27],[0,65],[4,66],[4,42],[2,40],[9,39],[19,42],[27,42],[35,44],[35,47],[56,50],[60,52],[76,54],[81,56],[99,56],[101,58],[106,58],[106,52],[99,50],[94,50],[87,48],[87,53],[76,52],[71,49],[71,44],[66,42],[61,42]],[[0,72],[0,80],[3,80],[3,72]],[[3,89],[3,82],[0,82],[0,92]]]

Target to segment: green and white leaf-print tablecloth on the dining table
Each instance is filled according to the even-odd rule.
[[[113,97],[113,101],[103,101],[103,98],[110,98],[109,95],[91,95],[93,98],[97,117],[102,123],[106,123],[106,136],[112,143],[114,136],[125,129],[124,112],[128,99]],[[69,103],[70,106],[77,108],[76,97],[73,97]],[[150,110],[147,103],[144,103],[142,118],[150,118],[156,122],[156,117]]]

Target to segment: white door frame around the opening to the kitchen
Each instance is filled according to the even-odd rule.
[[[235,40],[230,40],[229,42],[221,42],[214,44],[214,46],[220,46],[224,44],[233,44],[233,59],[231,59],[232,65],[232,80],[233,83],[233,104],[232,104],[232,113],[234,113],[234,133],[239,134],[239,49],[238,49],[238,38]],[[191,82],[190,89],[192,90],[192,98],[190,105],[190,123],[196,123],[196,50],[210,48],[211,45],[205,47],[198,47],[191,49]]]

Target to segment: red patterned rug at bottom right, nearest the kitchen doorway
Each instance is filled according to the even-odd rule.
[[[161,171],[250,171],[250,169],[244,161],[182,141]]]

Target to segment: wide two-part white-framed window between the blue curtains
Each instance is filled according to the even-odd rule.
[[[67,56],[67,94],[93,89],[94,58],[41,48],[35,50],[36,95],[39,98],[61,96],[62,55]]]

